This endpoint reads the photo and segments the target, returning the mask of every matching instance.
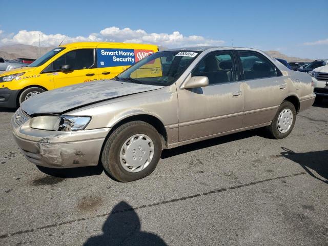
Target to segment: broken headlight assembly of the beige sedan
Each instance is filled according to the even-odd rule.
[[[30,120],[30,127],[48,131],[78,131],[86,128],[91,117],[88,116],[37,116]]]

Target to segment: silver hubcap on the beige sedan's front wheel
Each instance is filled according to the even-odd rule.
[[[135,134],[128,138],[119,153],[122,167],[128,172],[136,173],[144,170],[154,156],[154,143],[145,134]]]

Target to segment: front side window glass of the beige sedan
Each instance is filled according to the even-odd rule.
[[[209,85],[235,81],[234,61],[230,51],[212,52],[194,68],[191,76],[206,76]]]

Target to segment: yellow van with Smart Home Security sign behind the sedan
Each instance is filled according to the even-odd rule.
[[[0,74],[0,107],[15,108],[55,88],[110,79],[158,51],[155,45],[79,42],[60,45],[28,67]],[[149,71],[157,66],[149,66]]]

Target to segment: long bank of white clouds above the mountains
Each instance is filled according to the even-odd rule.
[[[45,34],[40,31],[20,30],[16,34],[2,34],[0,45],[25,44],[38,46],[39,38],[41,46],[57,46],[64,38],[64,43],[87,42],[87,41],[107,41],[125,43],[149,43],[166,47],[181,46],[220,46],[223,40],[205,38],[203,36],[191,35],[183,36],[180,32],[170,33],[147,33],[145,30],[132,30],[130,28],[120,29],[118,27],[108,27],[99,33],[91,33],[89,36],[69,37],[63,34]]]

